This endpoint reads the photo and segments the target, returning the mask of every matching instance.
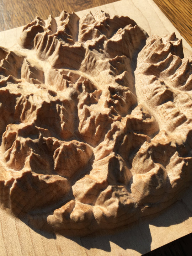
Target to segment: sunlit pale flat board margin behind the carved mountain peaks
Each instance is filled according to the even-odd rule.
[[[157,34],[158,36],[162,37],[165,34],[172,34],[172,32],[175,32],[177,38],[183,40],[184,57],[188,57],[192,54],[191,46],[176,30],[168,18],[160,11],[153,0],[128,0],[125,3],[126,6],[124,6],[124,8],[122,8],[124,2],[117,1],[111,4],[97,6],[92,9],[78,11],[76,14],[81,18],[89,11],[91,11],[93,14],[96,14],[97,11],[103,10],[110,15],[129,16],[149,35]],[[12,47],[20,37],[21,31],[22,27],[1,31],[0,46]]]

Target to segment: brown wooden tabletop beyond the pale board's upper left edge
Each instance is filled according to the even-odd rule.
[[[77,12],[115,1],[116,0],[0,0],[0,31],[26,25],[31,22],[35,16],[39,16],[45,20],[49,14],[53,17],[57,17],[63,10]]]

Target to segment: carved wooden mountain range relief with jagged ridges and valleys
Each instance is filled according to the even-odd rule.
[[[0,201],[54,231],[158,212],[192,180],[192,65],[128,17],[36,17],[0,48]]]

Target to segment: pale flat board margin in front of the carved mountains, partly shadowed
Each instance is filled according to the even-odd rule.
[[[116,233],[109,230],[104,235],[74,239],[51,234],[46,238],[0,208],[0,255],[142,255],[191,232],[191,198],[192,186],[159,214],[120,228]]]

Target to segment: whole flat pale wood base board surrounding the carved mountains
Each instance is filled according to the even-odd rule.
[[[135,4],[136,3],[136,4]],[[155,29],[156,24],[162,23],[158,27],[160,35],[166,32],[172,32],[172,25],[166,19],[153,2],[146,1],[142,5],[137,5],[138,1],[134,2],[134,5],[126,5],[126,1],[120,1],[111,6],[105,5],[104,7],[98,7],[92,12],[96,12],[97,9],[102,8],[104,11],[110,12],[110,14],[126,15],[128,10],[130,16],[140,26],[147,24],[145,30],[151,34]],[[136,6],[135,6],[136,5]],[[122,8],[122,6],[124,8]],[[148,7],[148,8],[146,8]],[[159,20],[154,22],[154,17],[151,17],[151,9],[158,15]],[[135,13],[137,10],[137,14]],[[137,21],[138,10],[140,10],[141,20]],[[145,10],[145,11],[144,11]],[[86,12],[86,11],[85,11]],[[85,12],[79,12],[81,16]],[[132,16],[131,16],[132,15]],[[134,18],[135,17],[135,18]],[[146,18],[148,17],[148,18]],[[151,17],[151,20],[149,19]],[[151,23],[153,21],[153,25]],[[151,25],[150,25],[151,23]],[[162,27],[164,26],[164,31]],[[142,26],[144,27],[144,26]],[[157,27],[156,27],[157,28]],[[162,30],[161,30],[162,29]],[[17,31],[17,32],[16,32]],[[21,29],[2,32],[4,40],[4,46],[7,46],[9,42],[5,41],[7,34],[13,35],[11,44],[18,38]],[[7,33],[7,34],[6,34]],[[161,34],[162,33],[162,34]],[[176,32],[178,33],[178,32]],[[179,36],[179,33],[178,33]],[[11,36],[9,36],[10,38]],[[15,39],[14,39],[15,38]],[[3,44],[3,43],[2,43]],[[185,44],[186,55],[191,54],[191,48]],[[117,234],[104,235],[102,237],[85,237],[76,238],[73,240],[66,239],[60,235],[55,239],[54,236],[45,234],[41,231],[39,233],[28,228],[28,226],[22,223],[19,219],[11,217],[6,211],[1,209],[1,241],[0,250],[2,255],[140,255],[153,250],[169,241],[186,235],[191,231],[191,191],[189,190],[182,200],[178,201],[173,207],[170,207],[161,215],[155,216],[150,220],[144,220],[136,223],[127,229],[120,231]],[[165,219],[167,220],[165,223]],[[177,230],[177,233],[175,232]],[[12,235],[10,235],[12,234]],[[145,234],[145,235],[143,235]],[[161,238],[161,239],[159,239]],[[67,250],[66,250],[67,248]]]

